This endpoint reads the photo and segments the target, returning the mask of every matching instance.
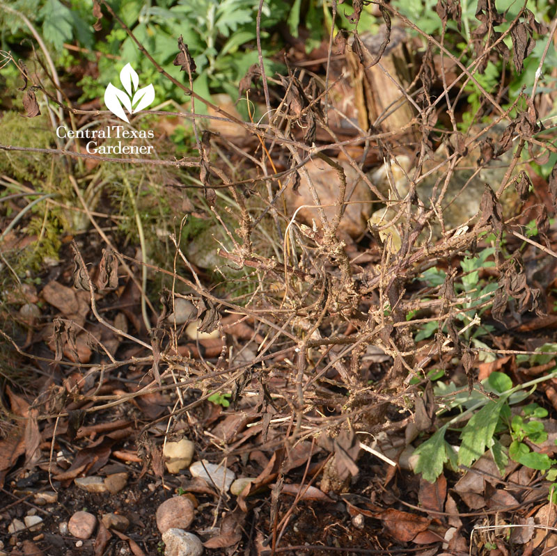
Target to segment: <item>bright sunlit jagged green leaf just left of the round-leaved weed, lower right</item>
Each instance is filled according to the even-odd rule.
[[[483,455],[486,448],[492,447],[493,434],[499,420],[499,413],[501,413],[501,408],[506,402],[505,397],[499,398],[496,402],[488,402],[466,424],[460,434],[462,440],[458,451],[458,463],[460,465],[470,466],[473,461]]]

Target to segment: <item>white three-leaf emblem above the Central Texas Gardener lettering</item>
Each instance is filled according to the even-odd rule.
[[[129,63],[120,72],[120,83],[125,91],[109,83],[107,90],[104,91],[104,104],[107,105],[107,109],[114,116],[118,116],[120,120],[130,123],[122,106],[130,114],[135,114],[147,108],[155,100],[155,88],[152,85],[148,85],[138,89],[139,75]],[[134,104],[136,104],[135,108],[133,108]]]

